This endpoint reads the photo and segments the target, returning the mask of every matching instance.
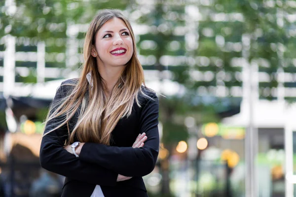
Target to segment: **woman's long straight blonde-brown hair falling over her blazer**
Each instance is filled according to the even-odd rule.
[[[99,73],[96,58],[91,56],[91,50],[95,44],[95,35],[98,30],[114,17],[121,19],[126,24],[133,40],[134,51],[131,60],[125,66],[107,97],[104,93],[106,86]],[[140,106],[139,93],[148,96],[141,88],[142,84],[145,85],[144,71],[137,58],[135,36],[131,24],[119,10],[102,10],[92,20],[85,36],[83,57],[84,65],[77,83],[65,84],[74,86],[73,91],[63,97],[60,102],[52,104],[45,124],[55,122],[51,121],[55,118],[63,117],[62,121],[59,121],[51,130],[54,131],[68,125],[69,120],[78,110],[78,120],[73,131],[70,133],[68,129],[67,144],[73,143],[74,137],[77,137],[80,142],[98,142],[109,145],[111,132],[120,118],[128,117],[131,114],[135,100]],[[89,72],[91,72],[93,87],[86,78]],[[51,131],[44,133],[44,135]]]

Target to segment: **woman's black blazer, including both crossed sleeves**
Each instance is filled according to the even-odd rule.
[[[73,90],[77,80],[62,82],[53,103]],[[159,151],[158,98],[142,87],[152,99],[140,96],[141,107],[134,102],[132,114],[121,118],[111,133],[111,145],[87,142],[79,158],[67,152],[63,146],[68,139],[67,125],[43,136],[40,148],[40,164],[43,168],[66,177],[62,197],[90,197],[96,185],[100,185],[105,197],[148,197],[142,176],[149,174],[156,163]],[[79,111],[79,110],[78,110]],[[69,121],[73,131],[78,112]],[[53,129],[48,122],[44,133]],[[132,148],[139,133],[148,139],[142,148]],[[116,182],[118,174],[133,177]]]

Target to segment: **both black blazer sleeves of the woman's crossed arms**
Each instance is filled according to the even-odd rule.
[[[60,86],[53,102],[63,98],[65,87]],[[64,148],[68,139],[67,126],[64,126],[43,136],[41,166],[66,177],[106,186],[115,186],[118,174],[126,177],[147,175],[155,166],[159,147],[158,99],[155,94],[152,98],[154,100],[148,99],[141,108],[140,133],[145,132],[147,136],[143,147],[141,144],[134,148],[87,142],[83,144],[79,158],[76,158]],[[44,133],[51,129],[49,122]]]

